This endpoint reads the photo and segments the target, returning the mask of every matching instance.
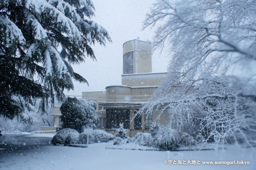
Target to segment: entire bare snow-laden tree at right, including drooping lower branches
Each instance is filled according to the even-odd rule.
[[[230,61],[256,60],[255,13],[250,0],[158,0],[143,28],[157,27],[153,50],[167,45],[169,77],[142,110],[165,106],[170,126],[205,141],[255,144],[255,91],[227,76]]]

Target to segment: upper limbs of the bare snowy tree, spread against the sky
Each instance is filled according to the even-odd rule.
[[[231,58],[256,60],[255,7],[252,0],[158,0],[143,28],[157,27],[153,49],[167,45],[169,71],[191,79],[202,70],[226,71],[221,64]]]

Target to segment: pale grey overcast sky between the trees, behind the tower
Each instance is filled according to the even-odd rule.
[[[74,70],[86,78],[89,86],[74,82],[74,91],[67,95],[81,97],[84,91],[105,91],[106,86],[121,85],[122,45],[137,39],[152,40],[153,31],[141,31],[145,14],[155,0],[93,0],[95,17],[92,20],[108,30],[112,43],[106,46],[92,45],[97,61],[90,58],[83,64],[74,65]],[[169,59],[158,52],[153,54],[153,72],[166,72]]]

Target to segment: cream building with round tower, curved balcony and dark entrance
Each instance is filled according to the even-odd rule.
[[[98,128],[115,133],[122,123],[129,136],[138,132],[148,132],[152,122],[166,125],[169,120],[161,108],[151,115],[136,112],[152,99],[167,72],[152,73],[151,43],[138,39],[123,44],[122,85],[105,87],[106,91],[82,92],[82,99],[96,100],[100,118]],[[162,114],[160,114],[162,112]],[[134,117],[135,116],[135,117]]]

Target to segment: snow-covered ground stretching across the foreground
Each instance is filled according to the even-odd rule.
[[[251,149],[226,145],[224,151],[182,151],[184,160],[200,165],[164,164],[166,152],[105,149],[108,143],[89,144],[88,148],[43,145],[23,152],[0,152],[0,169],[256,169]],[[176,152],[177,153],[177,152]],[[173,154],[173,152],[172,152]],[[249,165],[205,165],[202,161],[250,161]]]

